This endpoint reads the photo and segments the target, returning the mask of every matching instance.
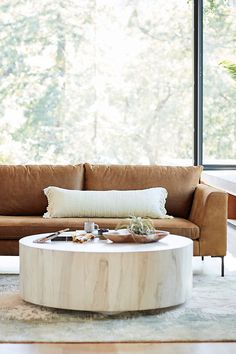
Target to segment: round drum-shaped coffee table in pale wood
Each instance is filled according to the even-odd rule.
[[[191,295],[193,242],[188,238],[169,235],[148,244],[33,243],[40,236],[20,240],[20,292],[26,301],[120,312],[174,306]]]

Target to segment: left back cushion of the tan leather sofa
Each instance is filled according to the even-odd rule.
[[[83,189],[83,165],[0,165],[0,215],[43,215],[44,188]]]

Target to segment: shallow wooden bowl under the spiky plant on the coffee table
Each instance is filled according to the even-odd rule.
[[[150,235],[134,234],[127,229],[103,232],[105,239],[113,241],[114,243],[150,243],[159,241],[167,235],[169,235],[169,232],[162,230],[156,230],[155,233]]]

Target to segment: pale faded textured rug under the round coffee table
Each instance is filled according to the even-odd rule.
[[[0,342],[236,340],[236,277],[195,275],[192,298],[168,310],[64,311],[24,302],[19,276],[0,275]]]

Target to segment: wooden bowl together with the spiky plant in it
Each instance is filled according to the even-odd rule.
[[[169,235],[168,231],[155,230],[148,218],[132,216],[127,223],[117,226],[114,231],[103,233],[103,236],[113,242],[148,243],[159,241]]]

